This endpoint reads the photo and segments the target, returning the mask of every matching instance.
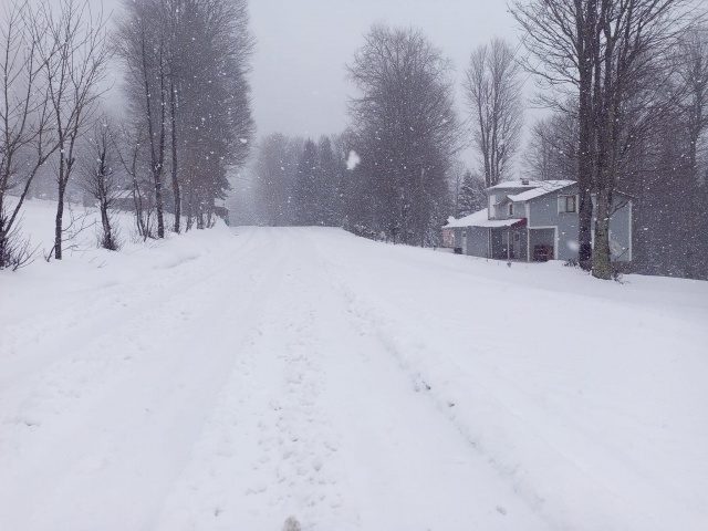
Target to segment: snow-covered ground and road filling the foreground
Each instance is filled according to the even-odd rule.
[[[705,531],[708,283],[624,280],[225,226],[2,271],[0,530]]]

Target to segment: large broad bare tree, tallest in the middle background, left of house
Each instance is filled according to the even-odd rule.
[[[395,232],[407,243],[434,243],[449,197],[446,174],[460,144],[450,72],[418,30],[377,24],[366,34],[348,65],[360,92],[350,102],[362,160],[356,209],[348,212],[356,225]]]

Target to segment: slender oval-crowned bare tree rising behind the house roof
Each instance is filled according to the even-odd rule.
[[[483,44],[470,56],[465,93],[485,184],[504,180],[523,125],[521,67],[511,45],[501,39]]]

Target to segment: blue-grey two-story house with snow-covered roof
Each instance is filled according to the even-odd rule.
[[[576,181],[510,180],[488,188],[487,199],[487,208],[448,220],[442,228],[446,247],[499,260],[577,259]],[[613,261],[632,261],[632,197],[626,194],[615,194],[610,250]]]

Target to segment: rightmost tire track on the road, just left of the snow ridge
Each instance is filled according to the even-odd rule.
[[[425,357],[426,352],[430,352],[433,348],[427,345],[416,333],[416,331],[407,327],[402,327],[400,323],[393,319],[389,314],[383,314],[381,309],[371,302],[366,298],[366,290],[355,290],[350,284],[351,264],[343,266],[340,261],[332,258],[331,253],[326,249],[321,247],[322,240],[313,238],[313,235],[308,235],[310,240],[310,247],[312,248],[312,254],[316,257],[316,264],[313,264],[313,269],[320,272],[320,277],[323,282],[330,287],[333,302],[332,305],[339,304],[343,309],[345,319],[342,320],[350,333],[354,336],[360,336],[361,340],[357,348],[357,358],[360,362],[364,362],[366,369],[369,372],[388,372],[389,378],[387,383],[405,387],[405,392],[408,394],[406,399],[407,406],[413,406],[413,409],[418,408],[420,414],[427,414],[435,417],[435,424],[448,425],[449,433],[454,434],[454,437],[459,442],[464,441],[466,449],[462,455],[458,457],[458,461],[461,468],[472,466],[477,469],[476,473],[481,477],[486,477],[490,482],[491,497],[487,499],[489,512],[492,518],[481,518],[476,529],[555,529],[554,525],[542,516],[539,503],[541,500],[537,499],[533,493],[527,496],[528,492],[521,492],[520,486],[510,480],[510,472],[502,471],[501,475],[499,467],[494,462],[490,461],[479,451],[478,442],[470,434],[469,429],[461,423],[457,421],[455,416],[455,405],[447,399],[444,394],[440,394],[438,389],[433,391],[426,383],[428,379],[425,374],[420,372],[420,367],[412,365],[409,357],[404,355],[403,351],[413,351],[418,355]],[[336,301],[336,302],[334,302]],[[406,340],[402,340],[406,337]],[[369,366],[371,365],[371,366]],[[381,388],[372,388],[369,393],[377,394]],[[382,393],[386,395],[385,389]],[[384,403],[381,404],[384,406]],[[376,406],[374,406],[376,407]],[[407,428],[407,427],[406,427]],[[368,428],[371,429],[371,427]],[[415,431],[415,429],[413,430]],[[400,441],[396,440],[395,445],[398,446]],[[445,446],[445,445],[442,445]],[[449,446],[449,445],[448,445]],[[431,452],[433,454],[433,452]],[[447,465],[447,464],[446,464]],[[490,466],[491,465],[491,466]],[[431,472],[434,476],[438,476],[438,471]],[[445,473],[440,473],[440,478],[444,478]],[[501,481],[499,481],[501,479]],[[393,479],[395,481],[395,479]],[[483,483],[482,483],[483,485]],[[445,480],[440,481],[440,486],[445,489]],[[493,486],[493,487],[492,487]],[[480,485],[470,486],[470,496],[476,489],[479,489]],[[501,492],[508,490],[506,494],[500,496]],[[509,493],[514,492],[512,498],[517,498],[516,501],[493,502],[494,497],[498,500],[509,498]],[[451,492],[449,494],[452,494]],[[418,496],[413,493],[412,496]],[[478,492],[480,499],[486,498],[482,493]],[[455,496],[450,496],[454,499]],[[446,507],[449,500],[437,500],[440,507]],[[457,507],[455,503],[449,504],[449,512],[454,514],[451,518],[439,518],[436,525],[436,519],[431,519],[430,529],[440,529],[437,525],[441,525],[441,529],[461,529],[462,525],[469,525],[468,522],[473,522],[479,518],[479,513],[483,511],[475,510],[471,508],[460,510],[459,506],[464,504],[461,501]],[[480,503],[483,507],[483,502]],[[511,507],[510,507],[511,506]],[[459,518],[464,514],[465,518]],[[504,517],[507,521],[498,520],[499,516]],[[514,518],[507,518],[513,514]],[[456,520],[457,519],[457,520]],[[367,528],[368,529],[368,528]],[[382,528],[375,528],[382,529]],[[407,527],[400,527],[399,529],[408,529]],[[421,527],[420,529],[428,529]],[[559,528],[560,529],[560,528]]]

